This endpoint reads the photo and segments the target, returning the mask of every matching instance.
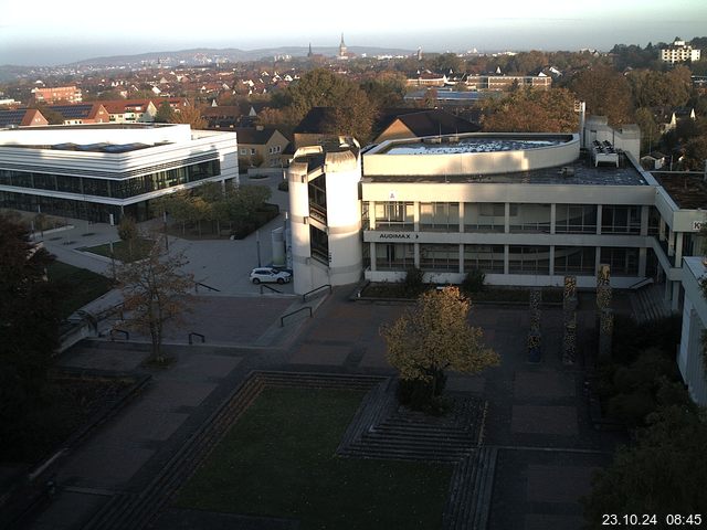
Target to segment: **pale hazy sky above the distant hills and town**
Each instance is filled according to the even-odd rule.
[[[428,52],[609,51],[618,43],[707,36],[706,0],[39,0],[28,6],[0,0],[0,65],[50,66],[191,47],[337,46],[341,33],[348,46]]]

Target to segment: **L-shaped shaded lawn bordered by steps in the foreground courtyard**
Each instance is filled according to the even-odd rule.
[[[452,466],[334,455],[362,396],[266,389],[176,505],[294,518],[303,529],[441,528]]]

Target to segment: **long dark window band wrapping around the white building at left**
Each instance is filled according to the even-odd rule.
[[[219,174],[221,174],[219,160],[157,171],[123,180],[0,170],[0,186],[127,199],[129,197],[141,195],[150,191],[186,184],[188,182],[196,182]]]

